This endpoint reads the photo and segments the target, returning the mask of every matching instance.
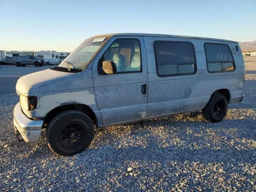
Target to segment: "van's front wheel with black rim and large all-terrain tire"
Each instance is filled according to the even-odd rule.
[[[68,110],[49,123],[46,141],[56,154],[70,156],[84,151],[94,137],[92,120],[83,112]]]

